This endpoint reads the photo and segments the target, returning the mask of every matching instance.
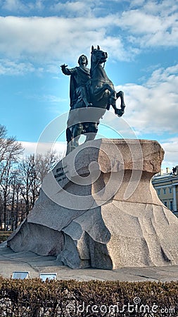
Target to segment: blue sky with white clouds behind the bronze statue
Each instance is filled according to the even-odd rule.
[[[127,137],[124,122],[128,137],[158,140],[163,167],[178,165],[177,0],[0,0],[0,13],[0,123],[8,135],[34,151],[51,121],[69,110],[69,77],[59,66],[77,66],[80,54],[90,60],[99,44],[108,52],[108,77],[125,92],[116,130]],[[117,137],[110,120],[108,112],[102,137]]]

